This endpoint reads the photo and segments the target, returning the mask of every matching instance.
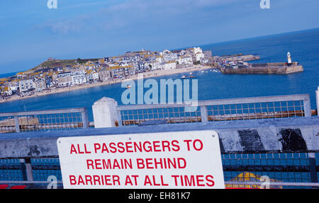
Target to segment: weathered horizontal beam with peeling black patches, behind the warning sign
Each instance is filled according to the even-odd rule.
[[[0,158],[57,156],[59,137],[208,129],[218,132],[222,153],[319,151],[319,117],[299,117],[1,134]]]

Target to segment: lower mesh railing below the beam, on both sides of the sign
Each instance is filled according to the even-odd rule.
[[[62,185],[58,158],[30,159],[30,175],[26,163],[20,159],[0,159],[0,185],[32,183],[46,188],[52,175]],[[319,188],[319,153],[224,153],[222,163],[228,188],[254,189],[265,183],[268,185],[263,188]]]

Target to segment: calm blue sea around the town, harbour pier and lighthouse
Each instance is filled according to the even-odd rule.
[[[289,75],[224,75],[206,71],[194,72],[198,79],[198,99],[242,98],[266,95],[309,94],[311,107],[315,108],[315,90],[319,86],[319,29],[296,33],[270,35],[247,40],[223,42],[201,46],[213,55],[259,54],[256,62],[286,62],[291,52],[294,62],[300,62],[304,71]],[[181,79],[182,74],[157,77]],[[1,78],[1,75],[0,75]],[[86,107],[89,120],[93,120],[91,106],[102,97],[114,98],[121,105],[121,83],[57,93],[38,98],[28,98],[0,104],[0,112],[50,110]],[[145,89],[147,91],[147,89]]]

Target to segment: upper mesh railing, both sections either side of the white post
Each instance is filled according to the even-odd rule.
[[[118,105],[120,126],[310,117],[309,95],[200,100],[193,111],[186,103]],[[86,108],[0,113],[0,133],[94,127]]]

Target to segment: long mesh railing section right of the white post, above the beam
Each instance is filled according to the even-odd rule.
[[[195,111],[187,112],[189,107],[186,103],[121,105],[116,110],[124,126],[311,116],[309,95],[200,100]]]

